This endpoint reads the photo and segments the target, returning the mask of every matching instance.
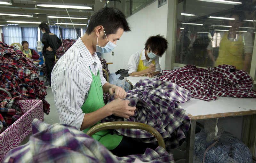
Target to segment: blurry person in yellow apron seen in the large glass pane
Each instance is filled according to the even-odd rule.
[[[236,69],[246,72],[250,71],[252,61],[253,39],[249,32],[239,32],[243,27],[243,12],[235,12],[230,15],[228,32],[220,32],[221,40],[218,58],[214,59],[212,54],[212,42],[206,48],[214,66],[231,65]]]

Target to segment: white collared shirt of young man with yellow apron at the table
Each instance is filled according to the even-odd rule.
[[[141,55],[141,60],[143,62],[143,66],[148,67],[153,59],[149,59],[147,61],[146,56],[145,56],[145,49],[143,49],[142,51],[138,51],[137,53],[132,54],[132,56],[130,57],[129,61],[128,61],[128,73],[132,74],[132,72],[136,72],[138,70],[138,66],[139,66],[139,62],[140,62],[140,54]],[[160,64],[159,64],[159,57],[157,56],[155,60],[156,63],[156,71],[160,71],[161,72],[161,68],[160,68]],[[156,72],[155,71],[155,72]]]

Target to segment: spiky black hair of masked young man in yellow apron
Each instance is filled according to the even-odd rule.
[[[157,51],[158,56],[162,57],[164,51],[166,51],[168,47],[168,41],[164,38],[164,36],[156,35],[150,36],[145,43],[145,49],[148,50],[148,46],[152,52]]]

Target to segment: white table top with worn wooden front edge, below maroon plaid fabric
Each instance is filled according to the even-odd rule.
[[[180,105],[190,119],[256,114],[256,98],[217,97],[210,102],[191,98]]]

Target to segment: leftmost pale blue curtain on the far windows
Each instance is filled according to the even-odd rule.
[[[12,43],[20,43],[22,41],[21,27],[9,25],[3,27],[4,43],[11,45]]]

